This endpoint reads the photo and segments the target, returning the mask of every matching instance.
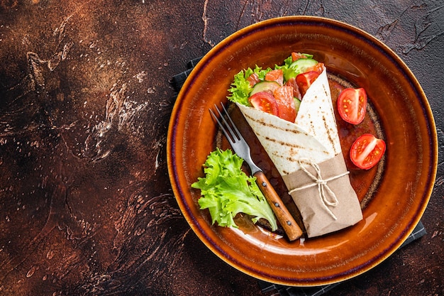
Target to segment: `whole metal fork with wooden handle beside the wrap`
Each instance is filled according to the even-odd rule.
[[[262,170],[257,167],[257,165],[255,165],[255,163],[251,159],[250,146],[248,146],[248,143],[240,134],[240,131],[235,126],[225,106],[223,106],[223,104],[221,103],[223,114],[225,114],[228,121],[230,121],[230,124],[228,124],[228,121],[226,121],[225,116],[223,116],[221,110],[218,109],[218,106],[216,106],[216,104],[214,106],[216,107],[219,116],[216,116],[213,110],[209,109],[211,116],[213,116],[213,118],[217,121],[218,126],[221,128],[223,134],[228,139],[228,142],[230,143],[234,152],[240,158],[243,158],[246,163],[248,163],[248,166],[251,170],[251,175],[253,177],[256,177],[257,185],[264,194],[265,199],[267,199],[268,204],[270,204],[270,207],[272,208],[274,215],[276,215],[277,220],[284,229],[285,234],[287,234],[290,241],[299,239],[299,237],[302,235],[301,228],[296,223],[296,221],[294,221],[292,214],[290,214],[287,207],[285,207],[282,199],[274,190],[264,172],[262,172]]]

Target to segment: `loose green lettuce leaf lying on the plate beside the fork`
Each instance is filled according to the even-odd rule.
[[[277,229],[276,218],[270,205],[257,186],[255,177],[249,177],[241,170],[243,159],[230,149],[210,153],[204,164],[205,177],[199,177],[192,184],[201,190],[199,206],[209,209],[212,223],[218,226],[238,227],[234,217],[238,213],[253,216],[256,223],[267,219],[272,230]]]

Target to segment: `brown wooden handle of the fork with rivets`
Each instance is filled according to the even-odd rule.
[[[282,225],[289,240],[294,241],[295,239],[299,239],[302,235],[301,228],[296,221],[294,221],[292,214],[290,214],[287,207],[285,207],[282,199],[277,195],[264,172],[255,172],[254,176],[256,177],[257,185],[264,194],[265,199],[267,199],[267,202],[270,204],[270,207],[272,207],[274,214]]]

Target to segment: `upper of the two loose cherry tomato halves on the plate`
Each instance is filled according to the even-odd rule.
[[[365,117],[367,94],[365,89],[347,88],[338,97],[338,112],[340,117],[350,124],[360,124]]]

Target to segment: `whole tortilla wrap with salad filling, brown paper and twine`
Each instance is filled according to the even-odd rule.
[[[228,97],[238,105],[301,212],[308,237],[362,219],[336,126],[326,67],[293,53],[274,69],[235,75]]]

